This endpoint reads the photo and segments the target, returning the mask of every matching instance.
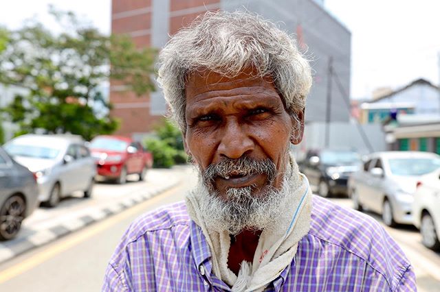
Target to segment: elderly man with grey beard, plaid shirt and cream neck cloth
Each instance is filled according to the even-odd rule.
[[[200,182],[131,225],[104,291],[415,291],[380,225],[312,196],[289,156],[311,69],[285,32],[207,13],[164,47],[159,83]]]

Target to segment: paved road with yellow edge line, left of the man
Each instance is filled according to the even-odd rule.
[[[162,195],[0,265],[0,291],[100,291],[107,262],[129,224],[144,212],[184,199],[195,183],[191,169],[180,175],[187,179]],[[111,191],[108,187],[98,184],[97,197]]]

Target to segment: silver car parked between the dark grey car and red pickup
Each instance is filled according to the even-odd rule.
[[[74,191],[91,196],[96,165],[80,136],[26,134],[12,139],[4,148],[36,175],[39,200],[46,206],[56,206]]]

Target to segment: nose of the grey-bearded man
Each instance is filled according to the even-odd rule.
[[[221,134],[221,142],[218,147],[220,156],[236,159],[244,154],[249,154],[254,149],[254,141],[245,126],[240,125],[235,119],[226,123]]]

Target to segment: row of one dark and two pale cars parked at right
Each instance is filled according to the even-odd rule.
[[[361,158],[355,151],[309,150],[299,163],[322,197],[348,195],[356,210],[382,215],[387,226],[412,224],[422,243],[440,250],[440,156],[384,151]]]

